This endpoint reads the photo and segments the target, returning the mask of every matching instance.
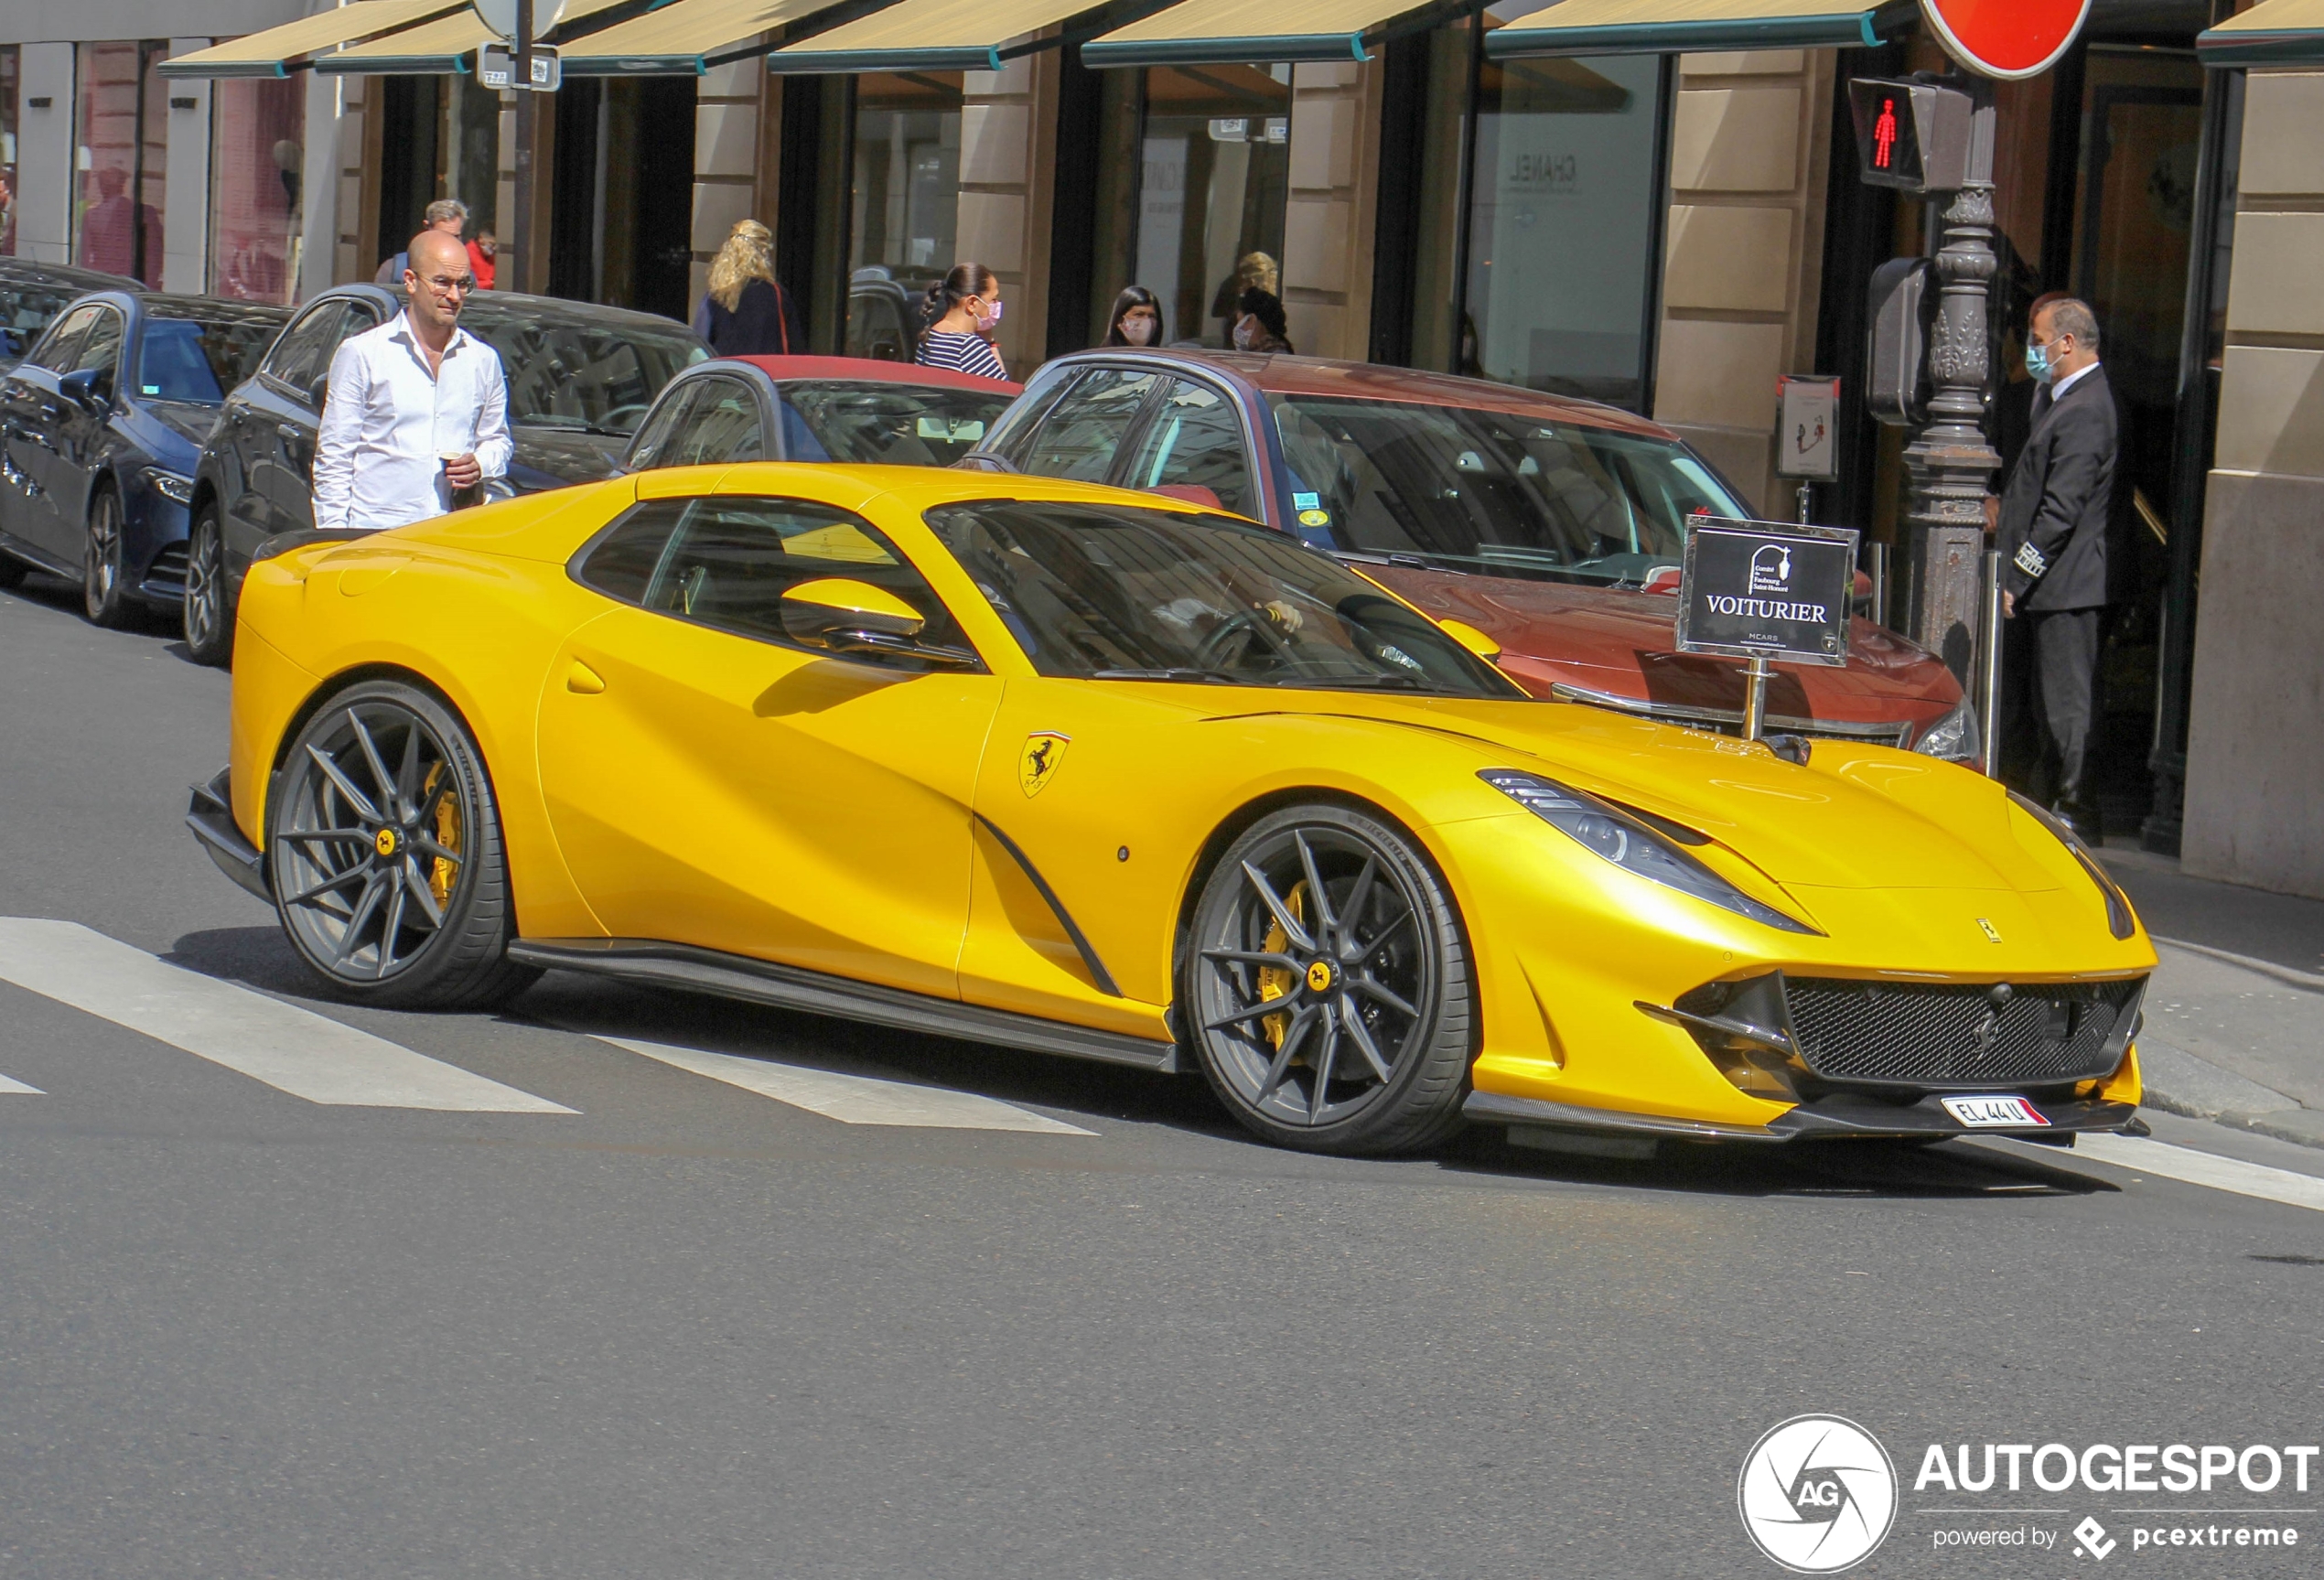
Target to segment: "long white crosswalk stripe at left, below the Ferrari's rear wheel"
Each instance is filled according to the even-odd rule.
[[[311,1104],[572,1113],[253,988],[172,967],[79,922],[0,915],[0,981]]]

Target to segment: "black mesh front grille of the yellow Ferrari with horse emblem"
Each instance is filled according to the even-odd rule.
[[[2115,1029],[2143,978],[2031,983],[2003,1004],[1980,983],[1785,978],[1799,1053],[1827,1080],[1880,1085],[2054,1085],[2122,1060]]]

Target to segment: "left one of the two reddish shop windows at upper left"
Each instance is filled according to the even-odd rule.
[[[74,93],[72,256],[81,267],[160,288],[160,216],[170,174],[170,98],[153,65],[160,40],[79,44]]]

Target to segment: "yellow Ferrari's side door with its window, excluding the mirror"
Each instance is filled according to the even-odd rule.
[[[667,497],[653,476],[574,574],[618,606],[539,709],[548,820],[616,939],[667,939],[955,997],[969,799],[999,678],[792,641],[781,595],[844,576],[967,646],[869,523],[799,500]]]

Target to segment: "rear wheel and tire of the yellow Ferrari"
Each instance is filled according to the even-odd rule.
[[[307,720],[267,850],[290,946],[346,999],[486,1008],[539,976],[507,960],[516,913],[483,755],[416,685],[365,681]]]

